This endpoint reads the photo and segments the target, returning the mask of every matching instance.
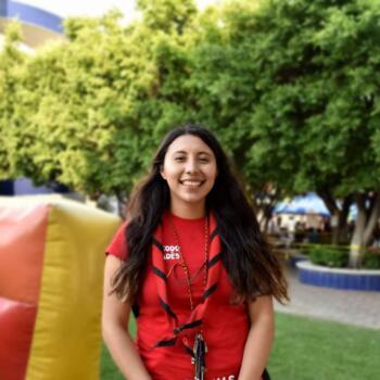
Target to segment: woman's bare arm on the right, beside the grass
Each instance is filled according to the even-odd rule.
[[[259,380],[275,337],[273,297],[258,296],[248,307],[251,328],[245,342],[239,380]]]

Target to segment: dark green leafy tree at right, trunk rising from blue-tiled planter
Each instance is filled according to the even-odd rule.
[[[328,194],[341,212],[337,198],[355,199],[352,266],[380,213],[379,15],[379,1],[268,0],[246,55],[257,94],[248,170]]]

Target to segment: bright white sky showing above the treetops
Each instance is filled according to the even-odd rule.
[[[200,9],[220,2],[220,0],[195,1]],[[135,16],[135,0],[17,0],[17,2],[40,8],[61,17],[100,16],[113,8],[123,12],[125,21],[130,21]]]

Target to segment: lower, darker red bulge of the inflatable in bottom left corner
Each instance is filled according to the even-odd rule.
[[[0,379],[25,379],[36,309],[0,296]]]

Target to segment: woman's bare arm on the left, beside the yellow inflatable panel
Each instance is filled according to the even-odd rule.
[[[111,292],[111,279],[121,266],[121,259],[109,255],[104,269],[104,293],[102,312],[102,331],[105,345],[114,362],[128,380],[151,380],[136,350],[128,331],[130,303],[122,302]]]

